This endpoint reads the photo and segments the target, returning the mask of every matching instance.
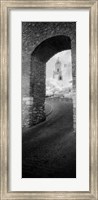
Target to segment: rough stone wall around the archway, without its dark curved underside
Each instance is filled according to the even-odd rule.
[[[67,36],[71,40],[73,68],[73,110],[76,118],[76,23],[74,22],[23,22],[22,23],[22,97],[34,98],[33,106],[23,103],[23,127],[29,127],[45,119],[45,62],[33,52],[45,40],[54,36]],[[43,74],[43,75],[42,75]],[[43,85],[43,86],[42,86]],[[40,99],[39,95],[40,93]],[[41,96],[42,95],[42,96]],[[37,100],[36,100],[37,99]],[[38,100],[39,99],[39,100]],[[24,111],[26,109],[26,112]],[[24,114],[25,113],[25,114]],[[33,113],[33,115],[32,115]],[[38,113],[38,115],[37,115]],[[26,116],[27,117],[26,117]],[[27,120],[27,121],[26,121]],[[75,123],[74,123],[75,125]]]

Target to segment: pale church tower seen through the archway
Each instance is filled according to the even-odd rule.
[[[62,69],[61,69],[61,62],[59,60],[59,58],[57,59],[56,63],[55,63],[55,70],[53,71],[53,78],[57,79],[57,80],[62,80]]]

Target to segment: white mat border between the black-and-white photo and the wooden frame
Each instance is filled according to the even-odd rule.
[[[18,13],[18,10],[11,11]],[[83,11],[63,11],[57,18],[57,10],[39,11],[44,13],[35,15],[37,10],[28,11],[28,14],[22,14],[24,11],[19,10],[20,14],[13,14],[10,20],[10,131],[11,131],[11,148],[10,148],[10,190],[11,191],[89,191],[89,10]],[[26,12],[26,11],[25,11]],[[32,16],[32,13],[34,15]],[[20,149],[21,149],[21,21],[43,21],[46,19],[45,13],[53,12],[53,15],[47,13],[48,21],[65,21],[65,12],[67,13],[66,21],[77,21],[77,178],[73,179],[21,179]],[[60,10],[59,10],[60,12]],[[69,13],[69,14],[68,14]],[[87,14],[87,17],[86,17]],[[34,19],[34,16],[37,18]],[[43,16],[43,18],[41,18]],[[30,20],[30,18],[32,20]],[[70,20],[69,20],[70,19]],[[12,25],[13,23],[13,25]],[[83,32],[83,29],[85,32]],[[82,39],[81,39],[82,38]],[[17,40],[19,39],[19,40]],[[84,48],[84,44],[85,48]],[[81,41],[81,43],[80,43]],[[18,45],[17,45],[18,44]],[[80,48],[79,48],[80,47]],[[13,53],[14,52],[14,53]],[[15,60],[16,59],[16,60]],[[85,62],[84,62],[85,61]],[[18,66],[18,67],[17,67]],[[84,73],[85,71],[85,73]],[[80,81],[81,80],[81,81]],[[83,84],[83,85],[82,85]],[[18,95],[17,95],[18,94]],[[84,98],[85,96],[85,98]],[[80,101],[81,99],[82,101]],[[81,107],[83,105],[83,107]],[[14,114],[15,113],[15,114]],[[82,113],[82,117],[80,116]],[[17,117],[18,116],[18,117]],[[16,117],[16,118],[15,118]],[[17,121],[17,124],[16,124]],[[87,126],[86,126],[87,123]],[[85,124],[85,126],[84,126]],[[13,127],[12,127],[13,126]],[[85,128],[85,130],[84,130]],[[14,130],[17,134],[13,134]],[[80,130],[80,131],[79,131]],[[85,134],[86,133],[86,134]],[[85,138],[85,140],[84,140]],[[85,152],[84,152],[84,151]],[[17,157],[17,155],[19,157]],[[79,158],[82,158],[81,160]],[[18,164],[17,164],[18,163]],[[84,164],[86,163],[86,165]],[[16,166],[16,167],[15,167]],[[80,172],[79,172],[80,171]],[[81,173],[83,172],[83,173]],[[79,177],[79,178],[78,178]],[[22,186],[23,185],[23,186]],[[28,188],[27,188],[28,185]]]

